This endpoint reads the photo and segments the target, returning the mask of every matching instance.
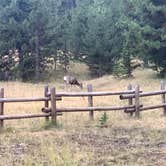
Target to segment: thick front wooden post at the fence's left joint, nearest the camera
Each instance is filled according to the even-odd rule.
[[[53,124],[57,124],[57,112],[56,112],[56,90],[55,88],[50,89],[51,93],[51,119]]]

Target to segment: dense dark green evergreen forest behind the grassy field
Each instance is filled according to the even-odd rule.
[[[165,20],[165,0],[0,0],[0,79],[40,80],[71,60],[130,77],[133,59],[164,77]]]

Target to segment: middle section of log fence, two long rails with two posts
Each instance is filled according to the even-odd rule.
[[[134,94],[135,90],[126,90],[126,91],[117,91],[117,92],[92,92],[92,85],[87,86],[88,92],[59,92],[56,93],[55,88],[51,88],[47,93],[47,96],[51,98],[51,107],[43,107],[42,112],[51,113],[52,122],[56,124],[57,118],[56,115],[62,112],[89,112],[90,120],[94,119],[94,111],[115,111],[115,110],[134,110],[134,105],[127,106],[109,106],[109,107],[94,107],[93,106],[93,97],[94,96],[114,96],[114,95],[125,95],[125,94]],[[140,91],[141,92],[141,91]],[[58,108],[56,104],[56,98],[63,97],[88,97],[88,107],[74,107],[74,108]]]

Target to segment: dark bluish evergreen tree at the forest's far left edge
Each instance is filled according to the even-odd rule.
[[[1,6],[2,5],[2,6]],[[28,31],[25,22],[31,11],[30,0],[6,1],[0,4],[0,55],[9,54],[9,50],[18,49],[19,66],[23,62],[23,45],[27,45]],[[3,70],[3,69],[2,69]],[[10,68],[8,69],[10,72]],[[13,73],[14,74],[14,73]]]

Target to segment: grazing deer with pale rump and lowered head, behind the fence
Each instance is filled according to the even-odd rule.
[[[71,87],[75,85],[75,86],[78,86],[80,89],[83,89],[83,84],[80,83],[80,82],[77,80],[77,78],[74,77],[74,76],[65,75],[65,76],[63,77],[63,80],[64,80],[64,83],[65,83],[66,87],[67,87],[68,85],[70,85]]]

